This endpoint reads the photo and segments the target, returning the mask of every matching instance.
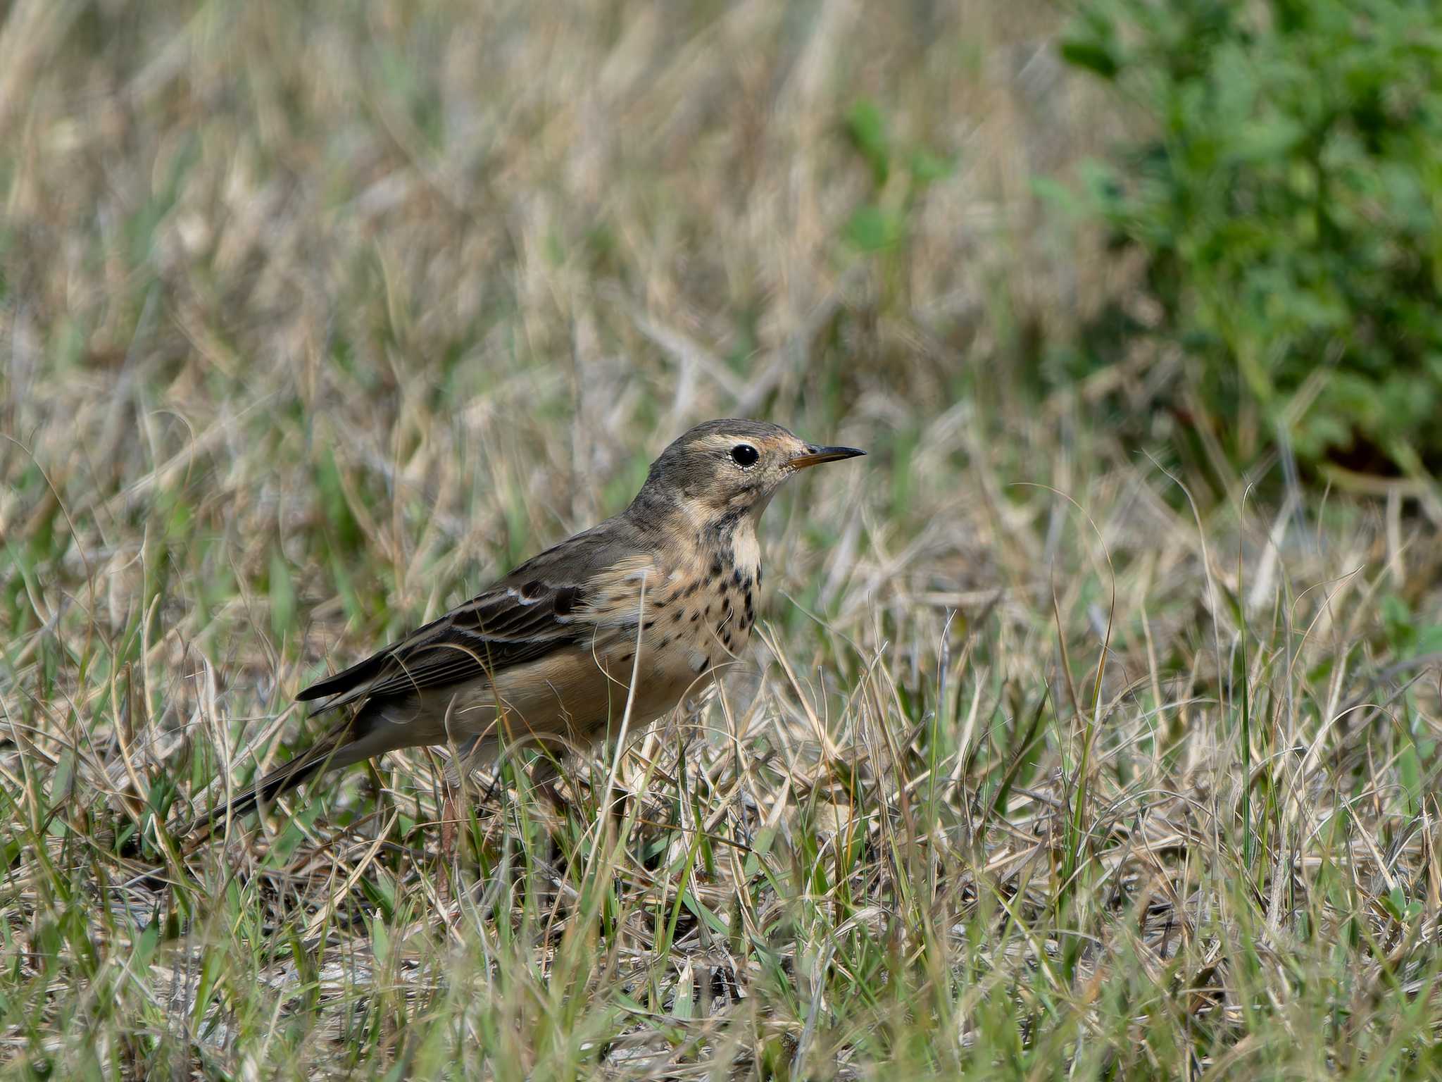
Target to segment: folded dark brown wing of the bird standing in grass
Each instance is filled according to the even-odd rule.
[[[360,698],[441,688],[590,641],[600,594],[614,589],[620,545],[603,524],[526,561],[490,589],[297,698],[327,698],[316,711]],[[624,561],[630,563],[630,561]]]

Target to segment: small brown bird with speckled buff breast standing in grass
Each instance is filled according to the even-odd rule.
[[[192,828],[385,752],[450,744],[495,756],[536,744],[554,763],[614,736],[623,718],[640,731],[746,648],[761,591],[757,522],[777,489],[859,454],[766,421],[698,424],[650,465],[619,515],[304,688],[297,698],[311,714],[343,720]]]

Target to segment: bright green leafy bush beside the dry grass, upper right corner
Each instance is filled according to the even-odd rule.
[[[1061,45],[1152,121],[1086,195],[1145,254],[1161,317],[1131,333],[1180,345],[1201,405],[1257,411],[1304,462],[1442,463],[1439,12],[1089,0]]]

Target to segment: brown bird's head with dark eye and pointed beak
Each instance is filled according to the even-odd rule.
[[[858,454],[865,452],[818,447],[766,421],[705,421],[650,465],[637,503],[679,502],[704,519],[760,515],[776,489],[797,470]]]

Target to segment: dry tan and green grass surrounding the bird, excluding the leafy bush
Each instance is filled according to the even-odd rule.
[[[1438,1073],[1435,528],[1035,395],[1126,287],[1031,195],[1120,124],[1056,20],[7,10],[6,1076]],[[727,414],[872,456],[614,809],[172,834]]]

